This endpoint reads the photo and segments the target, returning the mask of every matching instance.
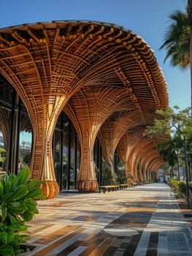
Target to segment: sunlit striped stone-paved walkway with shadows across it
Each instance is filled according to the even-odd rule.
[[[116,192],[66,192],[38,202],[31,225],[36,256],[189,256],[191,211],[166,184]],[[188,214],[188,217],[186,215]]]

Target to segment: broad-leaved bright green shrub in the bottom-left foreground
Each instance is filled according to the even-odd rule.
[[[29,169],[0,178],[0,255],[17,255],[28,235],[25,222],[38,214],[36,199],[45,199],[42,181],[29,181]]]

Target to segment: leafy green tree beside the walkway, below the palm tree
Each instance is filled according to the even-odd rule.
[[[161,148],[161,154],[164,154],[166,157],[171,157],[172,152],[175,148],[183,147],[180,135],[185,136],[187,139],[188,145],[188,167],[191,170],[192,162],[192,115],[191,108],[185,108],[180,110],[177,106],[174,108],[168,108],[167,110],[156,110],[161,119],[154,120],[154,126],[148,126],[145,129],[145,136],[153,137],[155,135],[167,135],[167,141],[161,143],[158,148]],[[164,151],[166,149],[166,151]],[[169,153],[168,153],[169,151]],[[172,159],[172,157],[171,157]],[[169,162],[169,159],[166,160]],[[171,165],[172,166],[172,165]],[[190,172],[191,174],[191,172]],[[190,175],[191,179],[191,175]]]

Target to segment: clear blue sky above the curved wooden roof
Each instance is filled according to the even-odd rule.
[[[185,10],[187,0],[9,0],[1,1],[0,28],[22,23],[53,20],[97,20],[115,23],[145,39],[155,51],[169,91],[169,105],[181,109],[191,105],[189,69],[164,64],[164,50],[158,50],[169,26],[169,14]]]

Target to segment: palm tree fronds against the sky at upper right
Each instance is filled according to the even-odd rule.
[[[166,49],[164,62],[169,58],[172,66],[191,69],[191,107],[192,107],[192,0],[188,0],[186,12],[176,10],[169,15],[171,24],[164,34],[164,44],[160,49]]]

